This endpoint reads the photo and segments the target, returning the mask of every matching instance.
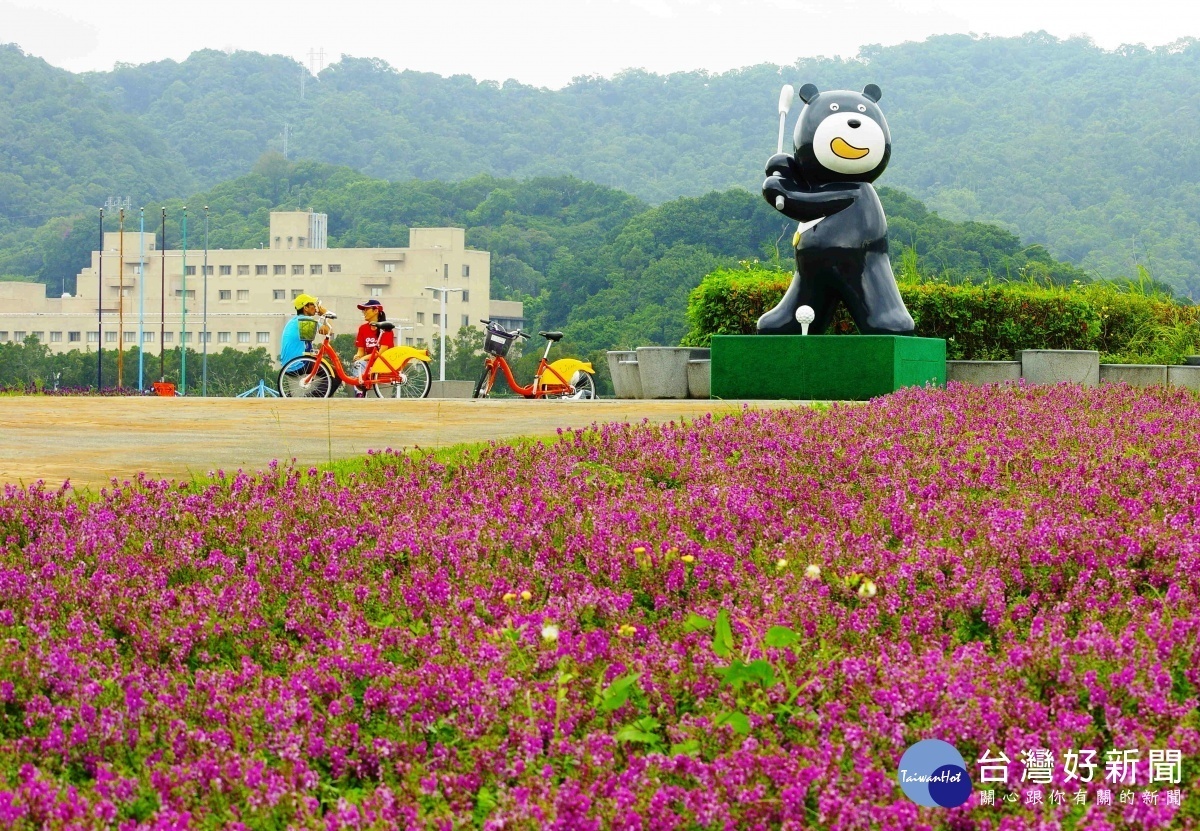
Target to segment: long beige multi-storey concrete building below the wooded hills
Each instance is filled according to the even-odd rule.
[[[492,301],[491,255],[468,249],[462,228],[412,228],[403,249],[329,249],[324,214],[272,213],[263,247],[210,249],[206,270],[203,249],[188,249],[185,261],[184,251],[158,250],[152,233],[106,233],[104,251],[92,252],[73,297],[0,282],[0,342],[32,334],[52,352],[67,352],[140,341],[157,354],[180,343],[200,351],[206,334],[210,352],[278,354],[293,299],[312,294],[337,313],[335,334],[353,334],[362,321],[355,306],[373,297],[396,322],[397,343],[432,346],[443,325],[432,289],[442,288],[448,337],[463,325],[482,329],[485,317],[523,323],[522,304]]]

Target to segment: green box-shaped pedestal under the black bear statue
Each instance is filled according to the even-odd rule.
[[[713,335],[712,397],[865,401],[946,384],[946,341],[899,335]]]

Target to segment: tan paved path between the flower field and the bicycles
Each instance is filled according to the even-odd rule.
[[[670,422],[786,401],[523,401],[0,397],[0,483],[97,488],[144,471],[166,478],[258,471],[367,450],[553,436],[593,423]]]

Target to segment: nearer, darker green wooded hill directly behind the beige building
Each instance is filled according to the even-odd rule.
[[[898,270],[950,281],[986,274],[1060,283],[1087,279],[1002,228],[949,222],[889,189],[880,195],[892,215]],[[180,245],[184,204],[166,202],[172,247]],[[200,205],[209,207],[214,249],[257,247],[266,240],[269,213],[296,205],[329,215],[331,247],[407,245],[414,226],[464,227],[467,244],[492,255],[492,295],[523,300],[530,328],[564,328],[564,346],[583,353],[678,343],[688,330],[688,294],[706,274],[744,259],[790,263],[794,228],[742,189],[650,207],[571,177],[394,183],[278,155],[245,177],[192,193],[186,204],[193,247]],[[151,227],[156,221],[155,215]],[[114,217],[106,225],[116,228]],[[126,227],[136,227],[136,216]],[[54,264],[78,259],[72,267],[78,270],[98,234],[96,217],[62,220],[61,231],[28,256]],[[906,256],[911,263],[901,262]],[[74,291],[74,273],[66,291]]]

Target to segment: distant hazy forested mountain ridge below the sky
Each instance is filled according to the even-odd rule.
[[[952,220],[996,222],[1099,276],[1145,265],[1200,297],[1200,43],[1105,52],[1082,40],[934,37],[857,60],[724,74],[625,72],[562,90],[397,72],[344,58],[206,50],[73,76],[0,48],[0,273],[30,229],[106,196],[181,197],[264,151],[371,177],[570,174],[650,204],[754,191],[781,83],[877,83],[893,138],[881,185]],[[304,79],[304,83],[301,80]],[[301,95],[302,92],[302,95]],[[50,275],[42,275],[50,280]]]

